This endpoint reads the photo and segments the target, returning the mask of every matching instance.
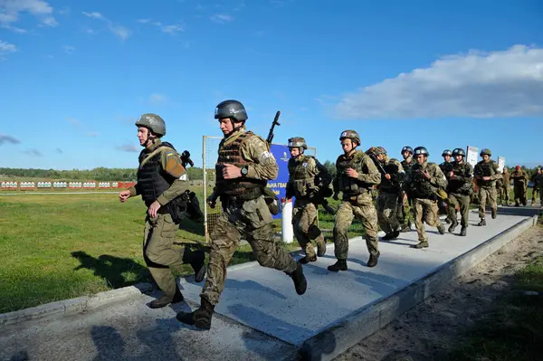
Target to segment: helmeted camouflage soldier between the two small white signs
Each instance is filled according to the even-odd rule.
[[[481,218],[481,221],[477,224],[486,225],[484,215],[487,199],[491,205],[492,219],[496,218],[498,209],[496,180],[501,178],[501,173],[498,163],[491,159],[491,149],[482,149],[480,156],[482,160],[473,167],[473,174],[475,175],[475,179],[477,179],[477,186],[479,187],[479,218]]]

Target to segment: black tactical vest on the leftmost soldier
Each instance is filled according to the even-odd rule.
[[[171,147],[172,149],[175,149],[167,142],[160,144],[157,148],[159,147]],[[153,150],[148,150],[147,148],[143,149],[141,153],[139,153],[139,164],[141,164],[150,153],[157,150],[157,148]],[[157,152],[157,154],[148,159],[143,166],[138,168],[138,192],[146,206],[155,202],[158,196],[162,195],[176,180],[176,177],[170,176],[162,168],[161,157],[162,152]]]

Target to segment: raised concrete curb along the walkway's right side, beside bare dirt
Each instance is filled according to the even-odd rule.
[[[450,281],[471,270],[537,222],[538,215],[529,217],[496,234],[472,251],[443,264],[423,279],[415,281],[394,295],[338,320],[335,324],[308,338],[300,347],[300,358],[303,360],[332,360],[339,356],[349,347],[353,347],[378,329],[384,328],[405,311],[412,309],[433,295]]]

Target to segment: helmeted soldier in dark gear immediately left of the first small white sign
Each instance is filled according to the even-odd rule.
[[[452,150],[452,162],[451,171],[445,176],[448,179],[447,194],[449,195],[449,218],[452,220],[451,226],[449,226],[449,232],[454,232],[454,228],[458,225],[456,219],[456,205],[460,205],[460,214],[462,220],[460,224],[462,229],[460,235],[466,235],[466,228],[468,227],[468,215],[470,212],[470,199],[473,193],[473,167],[467,163],[464,159],[466,152],[457,147]]]

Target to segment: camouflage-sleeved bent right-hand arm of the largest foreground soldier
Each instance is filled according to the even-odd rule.
[[[252,136],[243,144],[242,155],[254,162],[247,169],[247,178],[272,180],[279,174],[279,166],[270,152],[268,144],[260,137]]]

